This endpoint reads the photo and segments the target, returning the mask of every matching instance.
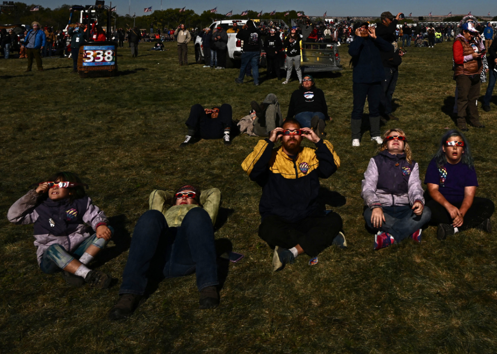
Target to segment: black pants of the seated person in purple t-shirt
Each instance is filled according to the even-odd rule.
[[[452,217],[450,217],[449,212],[440,204],[435,202],[428,193],[424,194],[426,200],[426,206],[431,210],[431,224],[452,224]],[[461,208],[462,203],[453,203],[452,205],[456,208]],[[483,220],[488,219],[492,216],[495,210],[494,202],[487,198],[475,197],[473,199],[473,204],[471,208],[468,209],[466,215],[464,215],[464,223],[460,230],[466,230],[468,228],[476,227],[480,225]]]

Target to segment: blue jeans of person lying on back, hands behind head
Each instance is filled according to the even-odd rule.
[[[158,247],[160,243],[164,247]],[[202,208],[187,212],[179,227],[169,227],[164,215],[157,210],[140,216],[133,231],[119,294],[144,294],[151,261],[157,252],[165,264],[166,278],[196,273],[199,291],[219,284],[214,228],[209,214]]]

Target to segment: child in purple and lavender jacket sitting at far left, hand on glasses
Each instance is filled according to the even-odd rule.
[[[92,271],[86,265],[105,247],[112,236],[104,212],[91,204],[80,178],[71,172],[59,172],[30,190],[8,210],[15,224],[34,223],[34,245],[38,263],[46,274],[64,270],[70,284],[105,289],[112,278]],[[96,231],[90,235],[87,223]],[[79,260],[75,258],[79,257]]]

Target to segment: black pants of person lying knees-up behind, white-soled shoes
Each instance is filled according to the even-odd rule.
[[[191,106],[186,125],[195,130],[202,139],[221,139],[224,130],[231,129],[232,122],[232,109],[229,104],[224,103],[217,118],[211,118],[210,114],[205,114],[204,107],[197,103]]]

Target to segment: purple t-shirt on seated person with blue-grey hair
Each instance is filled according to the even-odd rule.
[[[435,159],[432,159],[426,169],[426,183],[438,184],[438,191],[451,204],[463,201],[464,187],[478,187],[476,171],[461,161],[455,165],[446,162],[438,168]]]

